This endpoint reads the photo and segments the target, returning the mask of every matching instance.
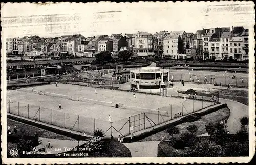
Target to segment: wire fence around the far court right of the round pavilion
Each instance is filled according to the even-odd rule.
[[[228,84],[234,87],[248,88],[248,74],[237,75],[237,73],[223,73],[222,75],[195,74],[193,71],[188,74],[171,73],[170,80],[174,82],[193,82],[195,84],[215,84],[227,86]]]

